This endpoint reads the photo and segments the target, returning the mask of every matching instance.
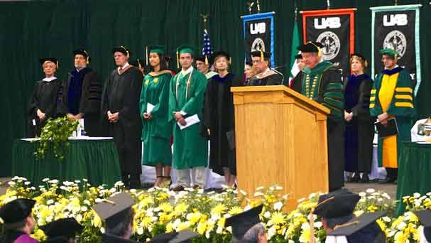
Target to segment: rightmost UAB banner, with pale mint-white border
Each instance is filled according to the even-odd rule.
[[[415,84],[420,85],[419,8],[416,5],[381,6],[371,9],[371,74],[383,69],[378,50],[392,48],[400,55],[398,65],[406,68]]]

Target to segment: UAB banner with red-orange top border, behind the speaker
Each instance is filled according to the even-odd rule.
[[[304,42],[322,43],[324,60],[350,73],[349,58],[354,53],[354,11],[356,9],[327,9],[302,11]]]

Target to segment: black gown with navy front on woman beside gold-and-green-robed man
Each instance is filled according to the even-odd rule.
[[[346,121],[345,171],[371,171],[374,123],[369,112],[373,80],[369,75],[349,75],[344,83],[344,109],[353,113]]]

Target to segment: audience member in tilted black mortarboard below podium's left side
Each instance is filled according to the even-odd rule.
[[[233,243],[266,243],[266,229],[261,224],[259,215],[263,205],[241,212],[226,219],[225,227],[232,227]]]

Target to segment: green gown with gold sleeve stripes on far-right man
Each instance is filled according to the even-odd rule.
[[[399,155],[402,141],[410,141],[410,129],[412,127],[412,118],[415,115],[415,107],[413,102],[413,83],[410,80],[408,71],[404,68],[394,68],[393,70],[383,70],[376,77],[373,82],[373,87],[371,89],[370,97],[370,114],[373,117],[383,113],[381,102],[378,99],[378,94],[381,92],[382,80],[385,75],[396,75],[398,78],[396,80],[395,89],[393,90],[393,97],[391,99],[391,104],[389,104],[386,112],[391,117],[395,117],[398,129],[397,141],[397,153]],[[391,77],[389,77],[391,78]],[[382,161],[382,148],[383,139],[378,139],[378,165],[383,165]],[[395,166],[387,166],[389,168],[397,168]]]

